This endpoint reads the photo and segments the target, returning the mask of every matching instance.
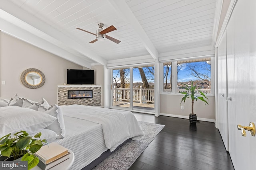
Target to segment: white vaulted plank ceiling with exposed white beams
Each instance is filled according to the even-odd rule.
[[[90,68],[214,44],[217,0],[0,0],[0,30]],[[96,41],[98,23],[116,30]],[[81,31],[77,27],[89,31]]]

